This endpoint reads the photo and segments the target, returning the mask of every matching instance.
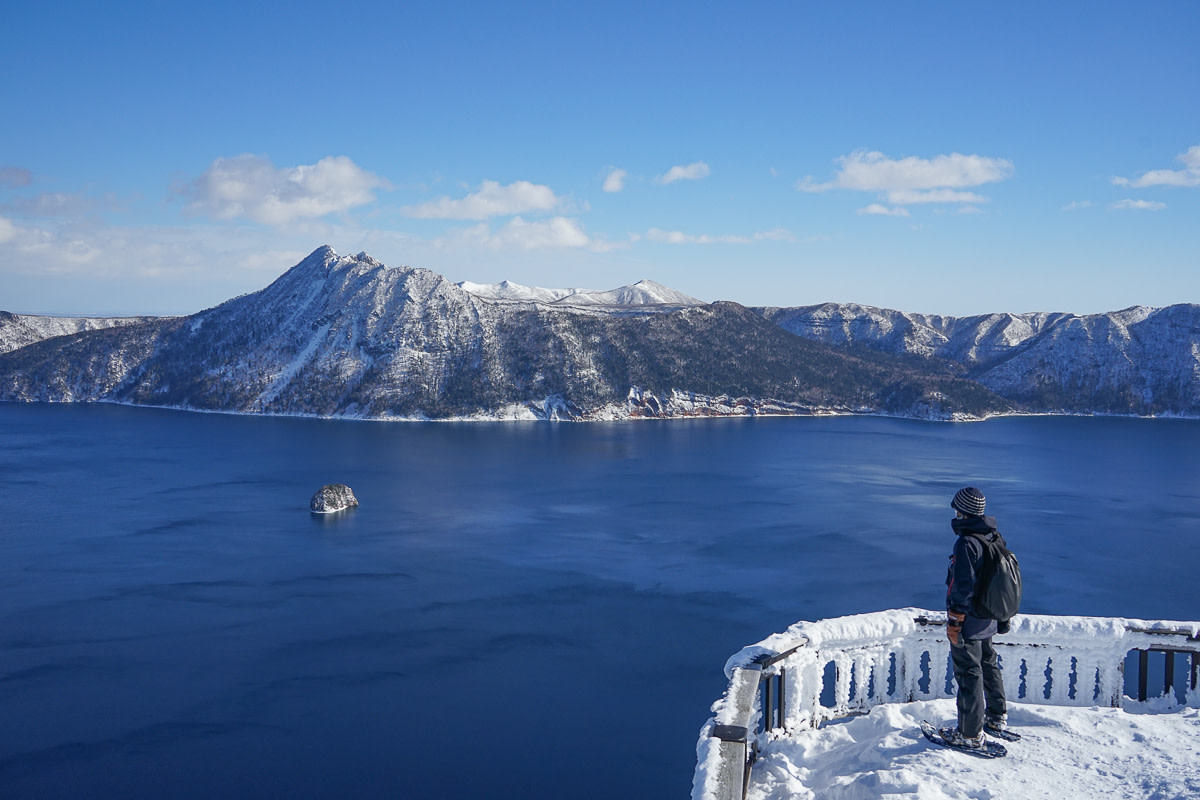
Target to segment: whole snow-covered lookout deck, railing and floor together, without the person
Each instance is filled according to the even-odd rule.
[[[992,642],[1024,735],[1000,762],[918,729],[955,717],[942,612],[802,621],[743,648],[692,800],[1200,796],[1200,622],[1021,614]]]

